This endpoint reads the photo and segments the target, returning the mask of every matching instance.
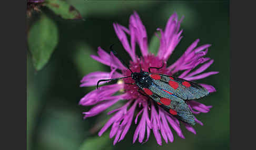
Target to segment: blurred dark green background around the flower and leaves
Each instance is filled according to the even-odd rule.
[[[230,47],[229,47],[229,2],[225,1],[82,1],[69,0],[84,20],[65,20],[51,11],[43,12],[54,20],[58,29],[58,44],[46,66],[36,71],[32,56],[27,55],[27,148],[28,149],[229,149],[230,145]],[[164,28],[173,12],[179,18],[183,38],[176,47],[169,62],[179,58],[185,49],[197,38],[199,45],[212,44],[206,57],[214,59],[206,71],[219,74],[199,80],[213,85],[217,92],[205,98],[202,103],[213,105],[207,114],[196,117],[204,125],[195,125],[196,135],[182,126],[185,139],[173,130],[174,142],[157,145],[153,132],[145,144],[132,144],[135,124],[124,140],[113,146],[109,133],[97,136],[106,114],[83,120],[82,112],[89,107],[78,105],[80,99],[95,87],[80,88],[82,77],[92,71],[110,71],[110,68],[94,61],[89,55],[96,54],[101,46],[126,55],[115,35],[113,23],[128,27],[129,17],[136,10],[146,27],[148,41],[156,28]],[[33,25],[37,13],[28,19]],[[136,48],[137,51],[138,48]],[[129,57],[124,57],[125,61]],[[169,63],[169,64],[170,64]]]

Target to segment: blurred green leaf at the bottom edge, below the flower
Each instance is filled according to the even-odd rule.
[[[100,149],[113,149],[112,140],[109,137],[109,132],[104,133],[102,136],[94,136],[86,138],[79,150],[100,150]]]

